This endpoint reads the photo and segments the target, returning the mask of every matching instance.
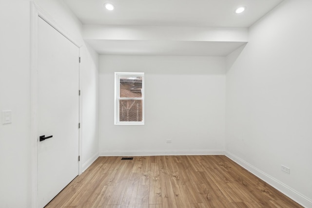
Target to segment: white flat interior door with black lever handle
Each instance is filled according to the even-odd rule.
[[[79,49],[46,21],[38,25],[38,205],[78,175]],[[48,138],[49,136],[53,136]]]

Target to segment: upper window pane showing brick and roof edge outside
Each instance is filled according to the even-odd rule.
[[[142,97],[142,77],[120,77],[120,97]]]

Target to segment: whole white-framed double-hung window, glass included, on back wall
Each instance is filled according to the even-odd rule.
[[[144,124],[144,73],[115,72],[115,124]]]

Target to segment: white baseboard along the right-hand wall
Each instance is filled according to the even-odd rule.
[[[235,156],[234,154],[230,152],[225,152],[225,156],[233,160],[235,163],[240,165],[241,167],[245,168],[246,170],[250,171],[253,173],[255,176],[258,178],[262,179],[266,183],[270,184],[273,186],[275,189],[279,190],[298,204],[300,204],[303,207],[306,208],[312,208],[312,200],[309,199],[308,197],[300,194],[296,190],[288,187],[287,185],[283,184],[282,182],[276,180],[272,176],[268,175],[267,173],[255,168],[251,164],[247,163],[246,161],[240,159],[239,157]]]

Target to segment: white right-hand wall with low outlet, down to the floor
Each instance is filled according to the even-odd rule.
[[[306,207],[312,207],[311,11],[311,0],[282,2],[250,28],[249,43],[227,58],[226,75],[228,155]]]

